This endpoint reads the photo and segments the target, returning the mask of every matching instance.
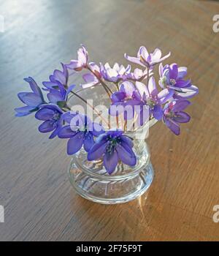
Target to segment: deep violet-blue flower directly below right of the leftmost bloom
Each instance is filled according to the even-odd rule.
[[[58,130],[61,128],[63,120],[61,115],[63,114],[62,110],[58,108],[57,105],[54,104],[46,104],[42,105],[37,113],[35,114],[35,118],[38,120],[44,121],[39,125],[39,132],[52,132],[50,135],[50,139],[53,139],[57,134]]]

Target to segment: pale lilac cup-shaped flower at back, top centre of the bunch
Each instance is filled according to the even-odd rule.
[[[118,80],[126,79],[126,74],[131,71],[131,66],[128,65],[126,68],[123,65],[115,63],[113,67],[110,67],[109,63],[100,64],[102,77],[110,82],[117,83]]]

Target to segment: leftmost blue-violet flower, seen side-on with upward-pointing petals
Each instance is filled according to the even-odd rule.
[[[37,86],[37,83],[34,81],[33,78],[28,77],[24,78],[26,82],[29,83],[31,90],[33,92],[20,92],[18,94],[18,98],[26,104],[25,107],[21,108],[15,108],[15,111],[17,112],[15,116],[27,116],[37,110],[39,110],[40,105],[46,103],[43,99],[42,91],[40,90],[39,86]]]

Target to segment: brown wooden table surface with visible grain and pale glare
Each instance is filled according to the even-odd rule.
[[[219,33],[217,1],[1,1],[1,241],[209,241],[219,205]],[[48,140],[33,117],[15,118],[23,78],[47,80],[83,42],[93,61],[128,64],[123,53],[158,47],[189,67],[200,93],[177,137],[163,124],[148,140],[155,178],[147,194],[104,206],[74,192],[65,140]],[[77,79],[76,79],[77,80]]]

